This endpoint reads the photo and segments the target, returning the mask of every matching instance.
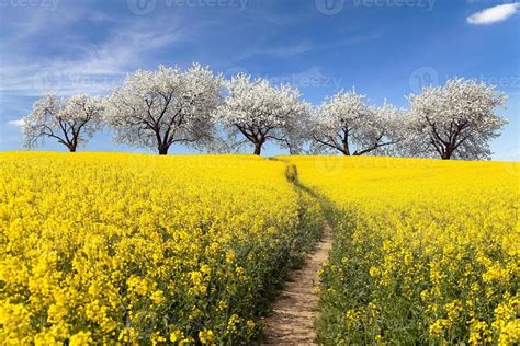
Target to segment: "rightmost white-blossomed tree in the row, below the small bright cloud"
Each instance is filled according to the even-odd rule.
[[[484,82],[456,78],[408,96],[409,154],[443,160],[490,159],[489,142],[507,119],[495,114],[507,96]]]

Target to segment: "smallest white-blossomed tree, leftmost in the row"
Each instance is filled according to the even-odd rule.
[[[78,94],[57,97],[48,94],[37,100],[22,119],[24,147],[33,148],[46,138],[57,140],[75,152],[101,128],[104,102],[101,97]]]

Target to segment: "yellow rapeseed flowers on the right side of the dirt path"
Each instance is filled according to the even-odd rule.
[[[284,160],[327,200],[335,228],[321,343],[520,342],[520,164]]]

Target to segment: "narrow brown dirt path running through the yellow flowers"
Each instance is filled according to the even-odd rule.
[[[321,241],[304,266],[291,275],[273,313],[264,320],[265,338],[262,345],[316,345],[313,323],[317,313],[318,293],[316,273],[327,260],[332,244],[332,232],[325,224]]]

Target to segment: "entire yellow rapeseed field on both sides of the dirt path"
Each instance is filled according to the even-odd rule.
[[[0,344],[247,343],[335,229],[319,342],[520,342],[518,163],[0,153]],[[294,181],[296,184],[292,184]]]

